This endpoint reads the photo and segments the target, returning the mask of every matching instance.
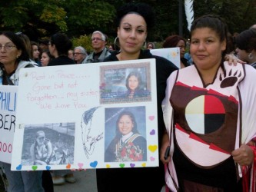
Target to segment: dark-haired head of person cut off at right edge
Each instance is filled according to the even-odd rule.
[[[242,31],[235,42],[238,58],[256,68],[256,28]]]

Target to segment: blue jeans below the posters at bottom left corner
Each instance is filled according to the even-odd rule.
[[[8,180],[10,192],[44,192],[42,187],[42,170],[12,171],[11,164],[2,163]]]

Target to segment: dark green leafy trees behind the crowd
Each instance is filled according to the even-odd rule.
[[[154,33],[148,34],[147,41],[156,42],[156,48],[161,48],[161,42],[169,35],[189,37],[184,1],[171,0],[5,1],[0,7],[0,31],[22,31],[31,41],[49,38],[58,31],[65,32],[71,38],[73,48],[82,46],[89,54],[93,31],[104,32],[109,44],[114,42],[115,13],[126,2],[146,2],[154,7],[158,22]],[[209,13],[219,15],[228,23],[232,35],[256,23],[255,1],[194,1],[193,6],[194,18]]]

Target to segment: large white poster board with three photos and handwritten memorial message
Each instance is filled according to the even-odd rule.
[[[157,167],[155,71],[155,59],[22,69],[12,170]],[[131,72],[141,75],[143,90],[134,98],[125,91]],[[137,125],[145,146],[137,147],[137,136],[125,147],[118,142],[111,145],[124,112],[134,115],[133,126]],[[52,144],[51,161],[32,159],[42,157],[39,136],[45,151]]]

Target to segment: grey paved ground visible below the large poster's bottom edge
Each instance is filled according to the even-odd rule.
[[[55,185],[55,192],[97,192],[96,170],[74,171],[75,184]]]

